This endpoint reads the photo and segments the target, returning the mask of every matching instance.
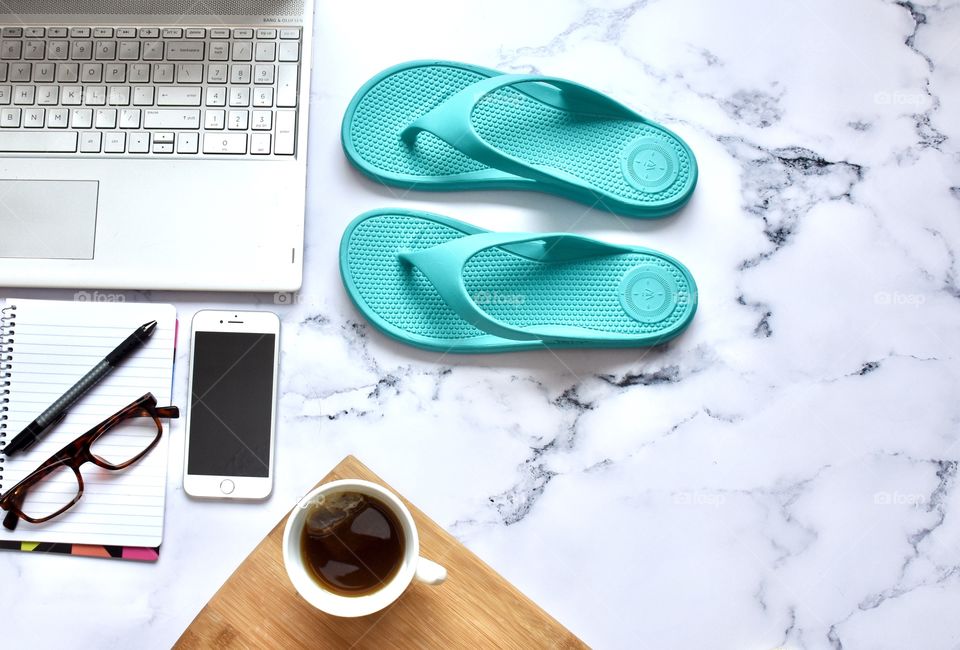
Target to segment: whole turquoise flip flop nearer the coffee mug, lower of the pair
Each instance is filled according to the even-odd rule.
[[[663,253],[395,208],[347,226],[340,274],[378,329],[441,352],[655,345],[697,309],[690,272]]]

